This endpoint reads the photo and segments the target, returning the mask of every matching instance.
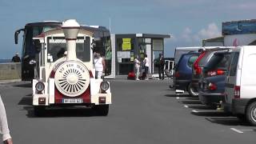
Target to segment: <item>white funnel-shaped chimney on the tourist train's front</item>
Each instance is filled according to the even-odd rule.
[[[63,22],[62,30],[66,38],[66,58],[67,60],[76,60],[76,40],[80,30],[80,25],[75,19],[69,19]]]

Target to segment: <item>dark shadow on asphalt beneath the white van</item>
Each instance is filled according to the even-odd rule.
[[[248,122],[239,120],[236,117],[207,117],[206,120],[225,126],[250,126]]]

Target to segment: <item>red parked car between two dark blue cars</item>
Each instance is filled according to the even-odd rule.
[[[211,47],[210,49],[203,50],[198,56],[198,59],[194,62],[192,69],[192,78],[191,78],[191,87],[194,89],[194,94],[191,96],[198,96],[198,81],[202,77],[202,71],[206,63],[209,62],[209,59],[214,55],[218,50],[227,50],[226,47]]]

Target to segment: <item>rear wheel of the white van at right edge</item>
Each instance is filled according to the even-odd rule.
[[[256,126],[256,102],[250,103],[246,109],[246,118],[250,125]]]

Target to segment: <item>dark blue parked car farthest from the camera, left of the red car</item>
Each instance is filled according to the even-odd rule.
[[[191,74],[194,61],[198,58],[199,53],[182,54],[178,64],[174,67],[174,87],[176,90],[188,91],[194,93],[191,88]]]

